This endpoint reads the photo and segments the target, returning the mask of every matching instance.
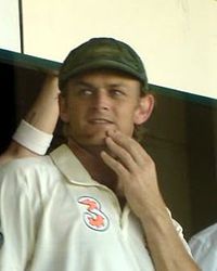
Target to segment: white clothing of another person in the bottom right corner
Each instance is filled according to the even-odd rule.
[[[203,271],[217,270],[217,223],[193,235],[189,245]]]

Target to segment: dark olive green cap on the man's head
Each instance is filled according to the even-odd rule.
[[[99,68],[129,74],[148,89],[143,63],[131,47],[114,38],[92,38],[73,49],[64,60],[59,75],[60,90],[71,77]]]

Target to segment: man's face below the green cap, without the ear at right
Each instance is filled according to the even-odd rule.
[[[73,78],[61,98],[67,133],[86,146],[103,145],[106,131],[132,136],[140,107],[140,82],[115,72],[91,72]]]

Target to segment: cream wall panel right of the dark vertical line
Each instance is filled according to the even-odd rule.
[[[216,0],[23,0],[24,50],[62,61],[92,36],[129,42],[150,82],[217,98]]]

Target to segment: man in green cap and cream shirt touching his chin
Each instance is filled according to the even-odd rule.
[[[133,139],[154,106],[138,54],[91,39],[68,54],[59,87],[67,145],[0,172],[1,270],[199,270]]]

